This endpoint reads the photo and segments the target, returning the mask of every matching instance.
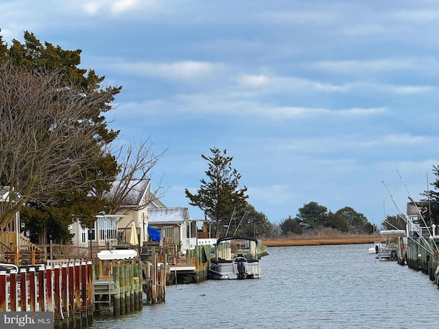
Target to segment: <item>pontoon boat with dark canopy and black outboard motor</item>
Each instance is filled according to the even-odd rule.
[[[215,256],[211,258],[209,278],[213,280],[261,278],[257,244],[257,239],[248,236],[226,236],[217,239]]]

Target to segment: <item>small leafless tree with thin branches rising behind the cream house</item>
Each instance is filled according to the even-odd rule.
[[[115,154],[119,168],[121,169],[118,180],[115,180],[111,190],[104,193],[101,197],[109,199],[111,209],[108,211],[112,214],[121,209],[123,205],[137,204],[138,193],[143,193],[145,188],[150,184],[152,177],[152,169],[163,155],[167,152],[164,149],[158,154],[152,150],[152,142],[150,137],[141,141],[139,146],[133,143],[121,146]],[[149,195],[137,210],[141,210],[154,202],[165,194],[165,188],[162,186],[162,179],[155,184],[155,188],[149,191]]]

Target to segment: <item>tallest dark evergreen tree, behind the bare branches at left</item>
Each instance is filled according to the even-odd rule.
[[[93,70],[80,69],[78,67],[80,53],[80,49],[64,50],[49,42],[45,42],[43,45],[34,34],[29,32],[25,32],[23,43],[12,40],[9,49],[0,37],[0,64],[3,65],[3,68],[6,66],[17,68],[19,70],[16,71],[16,74],[19,75],[17,76],[17,84],[22,86],[16,90],[6,89],[10,84],[10,77],[6,75],[3,75],[4,79],[0,81],[0,84],[5,87],[2,94],[2,106],[6,104],[5,96],[15,101],[15,103],[14,101],[8,102],[8,111],[12,110],[11,113],[14,113],[14,116],[10,117],[13,120],[8,126],[5,125],[4,118],[2,118],[1,142],[6,145],[3,142],[6,141],[4,138],[7,134],[10,136],[14,134],[15,138],[21,137],[17,134],[25,129],[23,128],[25,125],[21,121],[25,123],[29,121],[27,127],[34,128],[32,131],[29,130],[34,137],[32,140],[34,144],[29,144],[24,139],[17,141],[17,144],[21,145],[21,149],[14,149],[22,156],[20,162],[16,163],[16,167],[5,162],[0,163],[0,186],[10,186],[11,191],[21,196],[20,202],[22,204],[16,204],[14,209],[10,209],[9,214],[22,208],[23,204],[32,208],[22,210],[21,219],[26,223],[27,228],[34,230],[33,236],[39,236],[40,243],[47,243],[46,236],[54,241],[65,241],[68,234],[62,232],[67,230],[67,224],[71,222],[72,218],[80,219],[86,225],[91,225],[95,214],[104,207],[96,195],[106,191],[119,172],[115,156],[105,151],[105,146],[114,141],[119,132],[108,130],[106,118],[102,114],[112,108],[111,103],[115,95],[120,92],[121,87],[106,86],[104,84],[105,77],[99,77]],[[49,95],[51,99],[43,103],[45,90],[42,88],[37,90],[33,86],[34,89],[31,89],[29,77],[35,81],[40,79],[38,81],[47,83],[46,94],[48,95],[47,90],[54,90],[53,95]],[[56,82],[56,84],[51,84],[51,82]],[[41,95],[29,94],[29,97],[33,97],[34,103],[31,104],[29,101],[26,103],[23,90],[27,90],[26,92],[29,93],[35,90],[34,93],[41,93]],[[12,93],[15,94],[12,95]],[[65,136],[62,137],[62,131],[60,131],[57,140],[58,149],[56,149],[50,139],[54,138],[53,130],[56,127],[53,118],[61,117],[63,111],[71,108],[72,104],[75,104],[77,110],[69,114],[71,117],[70,126],[65,126],[64,135],[69,131],[76,130],[78,143],[66,145],[64,141],[63,144],[61,138],[65,139]],[[29,112],[26,111],[31,110],[34,111],[34,117],[27,117]],[[65,113],[67,115],[67,112]],[[5,116],[6,112],[3,111],[2,115]],[[32,119],[38,123],[38,130],[35,129],[35,125],[30,123]],[[90,134],[86,134],[86,132],[90,132]],[[25,135],[23,134],[23,136]],[[73,134],[69,137],[73,138]],[[29,149],[25,149],[27,146]],[[38,154],[29,156],[33,151],[32,147],[38,149],[41,158],[38,158]],[[8,149],[9,154],[12,151]],[[74,156],[78,157],[78,154],[82,156],[81,162],[74,164],[75,171],[70,171],[69,176],[64,175],[62,182],[56,181],[58,178],[56,173],[62,176],[63,171],[60,170],[62,167],[57,168],[55,162],[47,163],[47,160],[43,159],[43,156],[46,159],[55,159],[58,156],[64,160],[71,160]],[[58,161],[58,166],[61,164],[62,162]],[[29,169],[27,170],[27,168]],[[38,171],[38,175],[32,176],[32,180],[29,180],[29,173],[32,173],[33,169]],[[14,177],[12,177],[12,173]],[[67,173],[67,169],[64,173]],[[3,219],[0,218],[0,223],[3,226],[12,218],[11,215],[9,217],[6,215],[3,212],[3,217],[1,217]],[[53,233],[46,234],[45,231]],[[56,237],[58,233],[59,239]]]

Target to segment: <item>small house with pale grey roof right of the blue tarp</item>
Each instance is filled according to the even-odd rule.
[[[188,208],[150,208],[148,220],[152,228],[161,231],[161,242],[179,245],[182,254],[195,248],[197,226],[189,219]]]

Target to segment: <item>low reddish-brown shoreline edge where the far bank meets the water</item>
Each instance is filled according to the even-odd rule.
[[[370,237],[346,237],[339,239],[266,239],[262,245],[267,247],[298,247],[303,245],[355,245],[374,243],[377,238]]]

